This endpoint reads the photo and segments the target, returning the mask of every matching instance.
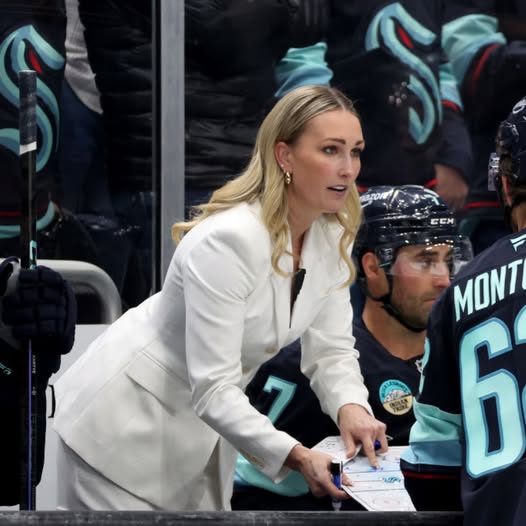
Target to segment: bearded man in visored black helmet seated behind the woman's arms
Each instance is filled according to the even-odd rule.
[[[387,425],[391,444],[405,445],[414,423],[413,399],[431,307],[458,266],[470,259],[445,202],[416,185],[372,187],[361,196],[363,221],[353,257],[366,299],[353,333],[374,415]],[[301,293],[301,291],[300,291]],[[312,447],[338,435],[301,372],[299,341],[285,347],[247,387],[252,404],[278,429]],[[301,476],[274,484],[238,458],[232,509],[331,509],[315,498]],[[352,500],[343,509],[356,509]]]

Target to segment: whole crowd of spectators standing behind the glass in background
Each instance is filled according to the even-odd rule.
[[[103,268],[125,309],[152,293],[157,263],[151,10],[137,0],[2,7],[0,254],[17,250],[15,73],[29,67],[39,72],[40,256]],[[486,167],[526,84],[524,17],[512,1],[187,0],[187,212],[240,173],[277,98],[331,84],[364,127],[359,188],[435,189],[479,252],[508,228]]]

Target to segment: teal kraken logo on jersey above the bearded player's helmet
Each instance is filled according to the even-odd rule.
[[[437,35],[415,20],[399,3],[380,10],[365,37],[367,50],[387,48],[411,68],[408,89],[421,103],[422,111],[409,108],[409,133],[417,144],[424,144],[442,121],[442,105],[437,78],[421,57],[411,51],[413,43],[431,46]]]

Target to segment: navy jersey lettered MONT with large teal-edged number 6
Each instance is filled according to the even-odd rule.
[[[402,459],[415,506],[460,508],[461,481],[466,525],[525,524],[525,230],[463,269],[433,306],[427,336]]]

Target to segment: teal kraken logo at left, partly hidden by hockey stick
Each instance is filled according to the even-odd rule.
[[[42,64],[52,70],[59,70],[64,65],[64,57],[32,25],[22,26],[10,33],[0,44],[0,95],[18,108],[18,86],[9,72],[15,75],[20,70],[33,69],[38,74],[42,73]],[[38,75],[37,98],[37,126],[41,136],[37,152],[38,172],[46,166],[53,148],[58,147],[60,115],[55,95]],[[55,134],[53,130],[56,130]],[[18,143],[17,128],[0,129],[0,146],[18,156]]]

